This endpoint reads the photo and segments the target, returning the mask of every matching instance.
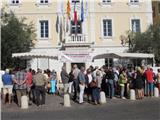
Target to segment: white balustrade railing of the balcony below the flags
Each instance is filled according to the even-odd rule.
[[[66,38],[66,43],[87,43],[86,36],[82,34],[72,34]]]

